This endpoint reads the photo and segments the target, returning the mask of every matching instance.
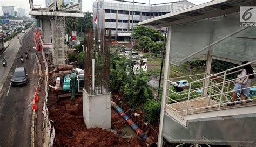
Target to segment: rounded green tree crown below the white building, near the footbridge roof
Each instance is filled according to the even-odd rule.
[[[163,35],[159,32],[159,30],[153,29],[151,26],[144,25],[136,25],[133,27],[132,32],[134,38],[140,39],[143,36],[150,37],[151,40],[158,41],[163,39]]]

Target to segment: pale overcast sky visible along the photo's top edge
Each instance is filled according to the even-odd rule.
[[[106,0],[105,0],[106,1]],[[107,0],[111,1],[111,0]],[[132,1],[132,0],[126,0]],[[150,0],[150,4],[156,3],[166,3],[166,2],[176,2],[179,0]],[[203,4],[206,2],[210,2],[211,0],[188,0],[191,3],[196,5]],[[24,8],[26,9],[26,16],[30,11],[29,0],[0,0],[0,15],[3,15],[2,6],[15,6],[14,11],[17,11],[17,8]],[[95,2],[93,0],[83,0],[83,12],[90,11],[92,12],[92,3]],[[149,3],[149,0],[134,0],[134,2],[141,2],[141,3]],[[34,5],[42,5],[45,6],[45,0],[34,0]]]

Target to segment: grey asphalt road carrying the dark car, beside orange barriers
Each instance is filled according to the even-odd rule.
[[[20,36],[19,36],[20,37]],[[17,39],[17,38],[16,38]],[[0,146],[30,146],[31,142],[31,114],[33,94],[39,79],[38,66],[35,55],[37,52],[33,50],[33,30],[25,34],[21,39],[21,48],[18,50],[19,43],[17,40],[12,40],[8,50],[12,50],[9,54],[8,50],[5,56],[8,56],[8,67],[10,72],[7,72],[6,81],[3,83],[2,97],[0,98]],[[28,46],[31,46],[31,52],[28,51]],[[24,57],[25,51],[29,53],[29,59],[24,58],[24,63],[21,63],[19,56]],[[3,55],[2,55],[3,57]],[[1,57],[1,58],[2,58]],[[13,59],[12,59],[13,58]],[[11,64],[10,60],[14,60]],[[12,65],[12,66],[11,66]],[[2,66],[3,67],[3,66]],[[0,71],[3,72],[1,67]],[[16,67],[25,67],[28,79],[26,86],[12,87],[10,85],[10,74],[14,73]],[[1,77],[3,78],[3,77]]]

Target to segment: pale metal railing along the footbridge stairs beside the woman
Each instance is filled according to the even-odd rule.
[[[231,102],[232,95],[234,92],[237,92],[238,90],[256,87],[256,85],[246,87],[246,88],[240,88],[235,91],[232,88],[235,85],[235,80],[240,79],[242,77],[255,75],[256,73],[248,74],[246,76],[241,76],[240,78],[227,79],[227,75],[231,75],[234,73],[239,74],[242,71],[241,68],[248,64],[255,65],[256,60],[252,62],[248,62],[247,64],[244,64],[244,65],[227,69],[226,71],[223,71],[217,74],[210,74],[210,76],[205,76],[205,78],[203,79],[199,79],[199,80],[187,83],[184,86],[180,86],[176,82],[171,80],[187,78],[191,76],[206,75],[206,74],[197,74],[197,75],[188,75],[188,76],[177,77],[177,78],[170,78],[167,81],[173,86],[166,88],[170,92],[170,94],[167,94],[166,96],[166,99],[168,100],[168,103],[166,103],[166,107],[176,111],[177,113],[192,114],[194,113],[194,112],[191,112],[192,110],[200,109],[200,111],[207,111],[206,110],[207,108],[215,108],[215,110],[220,110],[221,106],[224,106],[225,104],[252,101],[249,97],[249,99],[246,99],[246,100],[238,100],[235,102]],[[204,83],[204,82],[208,82],[206,87],[203,87],[204,84],[200,85],[201,83]],[[200,87],[198,87],[198,85],[200,85]],[[181,92],[176,92],[176,90],[174,89],[174,86],[182,87],[185,89]],[[205,90],[207,92],[206,95],[202,94]],[[173,95],[174,95],[174,98],[176,99],[172,98]],[[204,99],[207,99],[208,102],[205,104],[200,103],[200,106],[198,107],[197,106],[194,106],[193,108],[189,107],[193,101],[200,101],[200,100],[202,101]],[[179,105],[179,109],[181,110],[177,110],[177,108],[174,107],[173,103],[176,103],[176,106]],[[242,107],[242,106],[238,106],[238,107]]]

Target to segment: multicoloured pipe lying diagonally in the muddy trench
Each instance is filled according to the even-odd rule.
[[[138,127],[137,124],[135,124],[129,116],[126,115],[124,110],[120,108],[115,102],[111,101],[111,106],[119,113],[120,116],[124,118],[124,120],[130,125],[133,131],[136,132],[137,135],[142,138],[142,140],[150,145],[150,147],[155,147],[157,144],[147,135],[144,134],[144,132]]]

